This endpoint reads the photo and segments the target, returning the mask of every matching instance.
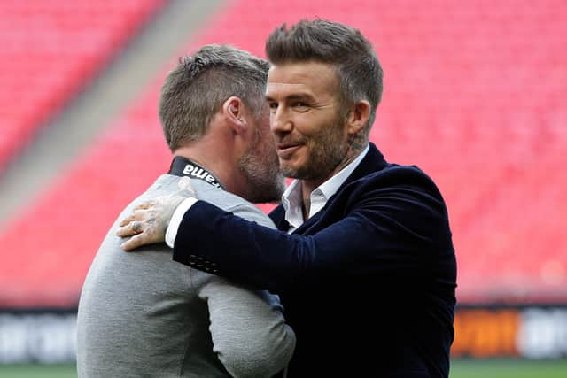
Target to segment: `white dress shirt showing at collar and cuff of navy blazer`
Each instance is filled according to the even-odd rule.
[[[329,198],[334,195],[338,188],[346,181],[346,178],[353,173],[362,159],[369,151],[369,145],[346,167],[341,169],[338,174],[333,175],[329,180],[323,182],[315,190],[311,192],[311,207],[309,208],[309,217],[311,218],[327,204]],[[190,207],[198,201],[197,198],[187,198],[175,209],[173,217],[169,221],[169,226],[166,231],[166,243],[171,248],[174,247],[175,236],[179,225],[183,220],[183,215]],[[305,221],[303,219],[302,211],[303,199],[301,197],[301,185],[298,180],[291,182],[290,186],[285,189],[282,196],[283,209],[285,209],[285,220],[290,224],[291,228],[288,232],[293,232],[299,228]]]

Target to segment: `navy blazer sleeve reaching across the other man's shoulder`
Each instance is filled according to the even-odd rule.
[[[428,250],[452,248],[445,204],[431,192],[367,187],[353,197],[312,235],[288,235],[198,201],[183,216],[174,259],[195,266],[203,258],[215,274],[280,292],[349,272],[419,272]]]

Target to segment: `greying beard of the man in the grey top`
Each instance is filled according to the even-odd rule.
[[[254,143],[238,161],[238,169],[248,181],[246,199],[255,204],[279,202],[285,190],[276,146],[266,131],[257,129]]]

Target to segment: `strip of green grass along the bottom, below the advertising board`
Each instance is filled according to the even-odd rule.
[[[0,378],[76,378],[74,365],[0,365]],[[453,361],[451,378],[565,378],[567,359],[558,361]],[[345,377],[351,378],[351,377]]]

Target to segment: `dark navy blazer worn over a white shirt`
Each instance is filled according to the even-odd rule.
[[[271,212],[286,231],[282,205]],[[297,346],[288,376],[447,377],[456,261],[446,204],[416,166],[373,143],[292,234],[198,201],[175,261],[280,295]]]

